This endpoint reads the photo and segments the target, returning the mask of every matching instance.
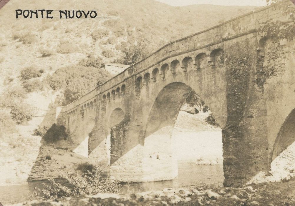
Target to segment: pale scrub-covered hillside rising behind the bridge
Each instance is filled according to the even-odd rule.
[[[96,9],[101,18],[15,19],[15,9]],[[134,64],[170,41],[253,9],[153,0],[9,1],[0,10],[0,185],[28,177],[41,138],[32,134],[42,118],[33,117],[111,78],[101,65]]]

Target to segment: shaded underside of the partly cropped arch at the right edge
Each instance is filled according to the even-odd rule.
[[[271,161],[287,149],[295,141],[295,108],[286,117],[276,137],[273,151],[271,152]]]

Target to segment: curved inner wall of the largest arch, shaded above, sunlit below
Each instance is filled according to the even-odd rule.
[[[143,171],[146,181],[170,180],[178,175],[171,137],[181,106],[193,91],[185,83],[174,82],[157,95],[145,130]]]

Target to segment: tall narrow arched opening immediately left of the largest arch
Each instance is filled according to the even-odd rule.
[[[109,118],[106,142],[108,148],[110,148],[108,154],[110,164],[114,163],[123,154],[122,141],[120,141],[122,138],[122,125],[120,124],[124,117],[124,111],[121,108],[116,108],[112,111]]]

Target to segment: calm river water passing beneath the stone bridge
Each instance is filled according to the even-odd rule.
[[[196,186],[222,186],[223,183],[222,164],[196,165],[195,163],[178,163],[178,177],[173,180],[159,182],[144,182],[124,184],[120,193],[137,193],[148,190],[164,189],[168,187],[196,187]],[[44,181],[28,182],[23,185],[12,185],[0,187],[0,202],[13,204],[29,199],[30,192],[35,187],[42,187]]]

